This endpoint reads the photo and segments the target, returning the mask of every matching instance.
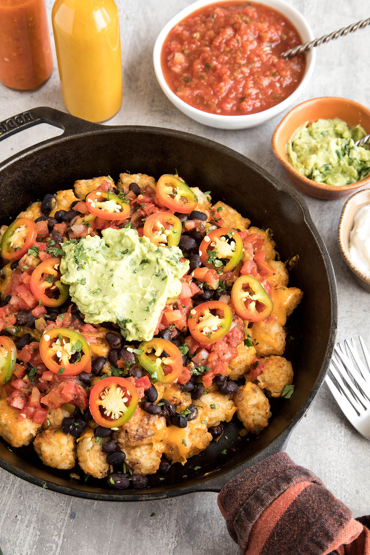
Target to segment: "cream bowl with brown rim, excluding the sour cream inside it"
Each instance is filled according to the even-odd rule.
[[[359,271],[357,266],[353,264],[351,258],[349,258],[349,232],[353,228],[354,216],[356,216],[358,210],[366,204],[370,204],[370,189],[364,189],[363,191],[354,193],[354,195],[349,197],[346,204],[344,204],[338,225],[338,244],[344,261],[352,271],[354,279],[362,285],[364,289],[370,291],[369,276]]]

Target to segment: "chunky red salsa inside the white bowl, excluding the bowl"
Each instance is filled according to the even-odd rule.
[[[262,112],[300,84],[305,56],[282,52],[301,44],[280,12],[254,2],[210,4],[169,32],[161,51],[166,83],[194,108],[220,115]]]

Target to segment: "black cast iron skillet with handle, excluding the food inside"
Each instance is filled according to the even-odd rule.
[[[301,196],[245,158],[211,140],[171,129],[108,127],[52,108],[35,108],[0,123],[0,140],[38,123],[64,129],[57,138],[28,148],[0,164],[1,224],[50,191],[72,188],[75,179],[122,171],[159,178],[178,173],[190,185],[211,190],[253,225],[273,230],[282,260],[298,255],[291,285],[305,292],[288,320],[286,357],[295,370],[290,400],[272,400],[273,417],[260,436],[240,437],[236,417],[224,435],[185,466],[174,465],[144,491],[112,491],[104,481],[72,480],[70,471],[43,466],[32,445],[8,449],[0,443],[0,466],[50,490],[107,501],[160,499],[195,491],[219,491],[247,466],[282,450],[293,428],[320,390],[331,359],[337,325],[337,292],[331,260]],[[226,453],[222,453],[225,451]],[[195,470],[195,467],[200,467]],[[82,476],[83,478],[83,476]]]

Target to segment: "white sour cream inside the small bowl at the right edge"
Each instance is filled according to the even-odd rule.
[[[354,217],[349,256],[358,270],[370,277],[370,204],[362,206]]]

